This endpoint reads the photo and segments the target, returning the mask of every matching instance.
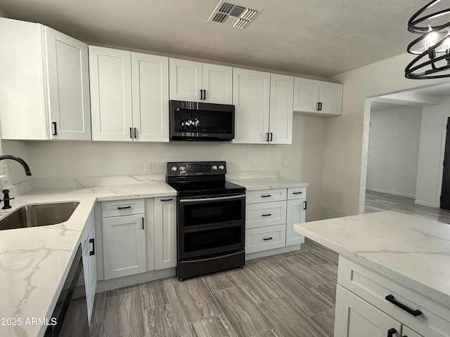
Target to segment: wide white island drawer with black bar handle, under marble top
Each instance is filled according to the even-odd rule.
[[[449,308],[342,256],[339,257],[338,284],[423,336],[450,337]],[[411,315],[390,303],[386,299],[388,295],[394,296],[394,300],[411,310],[422,313],[416,317]]]

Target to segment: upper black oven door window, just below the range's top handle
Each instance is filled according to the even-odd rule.
[[[243,220],[243,201],[215,201],[186,204],[183,206],[184,227],[214,225]]]

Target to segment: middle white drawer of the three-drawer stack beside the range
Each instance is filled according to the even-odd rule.
[[[245,228],[286,223],[286,201],[262,202],[245,207]]]

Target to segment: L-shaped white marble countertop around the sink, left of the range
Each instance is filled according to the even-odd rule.
[[[102,185],[91,186],[96,184]],[[51,317],[96,201],[176,195],[164,180],[152,178],[106,178],[73,185],[31,190],[11,200],[12,209],[0,211],[3,217],[25,204],[79,201],[65,223],[0,230],[0,336],[44,336],[46,326],[32,319]]]

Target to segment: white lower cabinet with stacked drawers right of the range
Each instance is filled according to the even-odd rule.
[[[307,187],[245,192],[245,253],[292,246],[304,242],[294,231],[306,213]]]

